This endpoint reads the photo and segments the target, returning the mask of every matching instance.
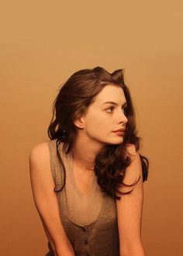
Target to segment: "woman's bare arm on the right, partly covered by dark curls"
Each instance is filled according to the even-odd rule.
[[[141,247],[140,232],[143,208],[143,177],[140,154],[136,152],[133,145],[129,146],[128,151],[131,154],[131,156],[129,156],[132,162],[129,164],[129,167],[126,168],[126,175],[123,182],[130,185],[138,180],[138,178],[140,179],[132,187],[121,187],[119,189],[121,192],[133,190],[129,194],[121,195],[120,200],[116,200],[120,249],[124,251],[126,248],[130,247]]]

